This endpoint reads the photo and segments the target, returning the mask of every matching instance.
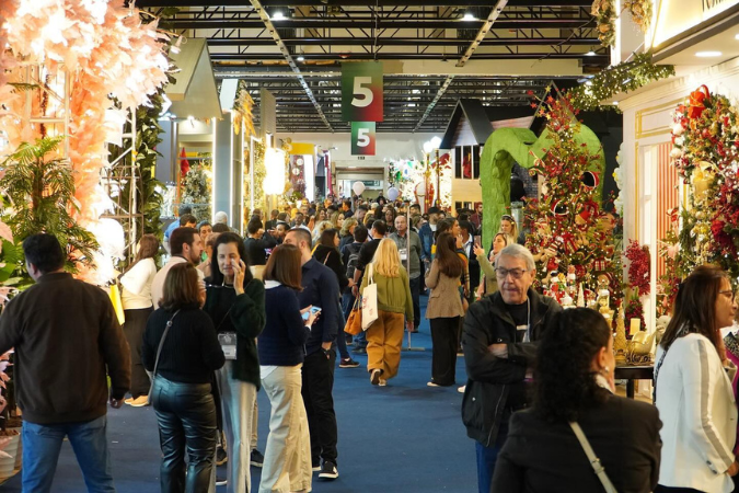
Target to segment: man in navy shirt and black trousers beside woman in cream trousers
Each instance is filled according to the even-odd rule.
[[[321,479],[334,480],[338,478],[336,469],[338,431],[332,395],[336,352],[332,346],[336,341],[340,318],[338,279],[331,268],[313,260],[309,231],[293,228],[285,236],[285,243],[298,246],[302,255],[303,290],[298,294],[301,309],[308,306],[321,308],[321,316],[313,323],[311,335],[305,343],[302,394],[311,433],[313,470],[321,471],[319,473]]]

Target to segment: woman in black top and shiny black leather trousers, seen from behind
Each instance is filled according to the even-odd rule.
[[[215,481],[211,484],[216,404],[210,379],[226,359],[210,318],[200,311],[199,297],[195,266],[189,262],[174,265],[164,280],[161,308],[149,317],[143,334],[141,359],[146,369],[155,370],[152,401],[162,448],[162,492],[198,493],[216,488]]]

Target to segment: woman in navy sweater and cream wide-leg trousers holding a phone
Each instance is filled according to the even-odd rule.
[[[300,250],[291,244],[277,246],[264,270],[266,324],[257,349],[272,415],[259,493],[311,491],[311,437],[301,368],[316,316],[312,307],[300,309],[301,274]]]

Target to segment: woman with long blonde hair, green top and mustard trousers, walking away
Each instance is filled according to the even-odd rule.
[[[408,273],[401,265],[395,242],[380,241],[374,257],[365,270],[361,291],[369,284],[378,286],[378,319],[367,329],[367,370],[373,386],[384,387],[397,375],[405,325],[413,330],[413,298]]]

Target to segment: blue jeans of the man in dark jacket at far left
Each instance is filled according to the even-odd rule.
[[[23,422],[23,491],[47,493],[65,436],[74,450],[90,493],[115,492],[107,448],[107,416],[83,423],[42,425]]]

